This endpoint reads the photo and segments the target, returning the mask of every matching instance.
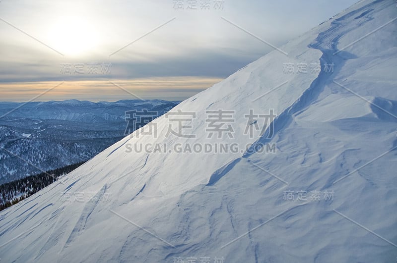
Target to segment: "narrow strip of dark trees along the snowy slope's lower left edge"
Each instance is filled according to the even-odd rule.
[[[37,193],[58,180],[60,176],[71,172],[84,162],[73,163],[0,185],[0,211]]]

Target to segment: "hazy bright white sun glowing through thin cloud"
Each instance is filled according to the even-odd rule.
[[[95,26],[79,16],[62,16],[49,30],[53,48],[65,56],[81,56],[92,52],[99,37]]]

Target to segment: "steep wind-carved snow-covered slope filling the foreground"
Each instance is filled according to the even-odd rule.
[[[167,136],[172,115],[159,117],[157,138],[138,130],[0,212],[1,259],[394,262],[395,17],[394,0],[360,1],[281,47],[287,56],[268,53],[172,109],[196,112],[184,123],[196,138]],[[206,110],[218,109],[235,111],[233,138],[207,138]],[[250,109],[277,117],[244,135]],[[166,153],[129,151],[156,143]],[[239,150],[172,151],[217,143]],[[277,152],[256,147],[266,143]]]

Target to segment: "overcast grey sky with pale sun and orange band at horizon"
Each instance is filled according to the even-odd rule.
[[[273,50],[226,20],[279,47],[354,2],[1,0],[0,101],[183,100]]]

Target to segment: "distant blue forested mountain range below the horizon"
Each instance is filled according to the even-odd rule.
[[[0,183],[94,157],[125,136],[126,111],[145,109],[160,116],[178,104],[162,100],[0,102]]]

